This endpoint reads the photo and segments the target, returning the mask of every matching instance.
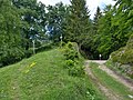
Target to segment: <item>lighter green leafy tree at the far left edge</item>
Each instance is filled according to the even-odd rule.
[[[24,50],[21,47],[21,20],[19,10],[10,0],[0,0],[0,64],[21,60]]]

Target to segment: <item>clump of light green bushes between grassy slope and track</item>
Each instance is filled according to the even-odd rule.
[[[78,51],[78,44],[68,42],[63,47],[63,54],[65,57],[65,68],[69,69],[69,74],[73,77],[81,77],[84,74],[84,68],[81,64],[81,57]]]

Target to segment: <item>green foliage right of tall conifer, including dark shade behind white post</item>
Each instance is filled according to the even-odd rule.
[[[99,59],[101,53],[102,59],[108,59],[113,51],[124,47],[132,34],[132,0],[115,1],[115,6],[106,6],[102,13],[100,8],[96,10],[91,23],[92,34],[83,44],[83,50],[90,52],[90,57]]]

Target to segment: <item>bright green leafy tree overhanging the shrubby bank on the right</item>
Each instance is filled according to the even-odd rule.
[[[100,19],[96,42],[98,51],[108,59],[110,53],[124,47],[132,34],[132,0],[116,0],[114,7],[106,6]]]

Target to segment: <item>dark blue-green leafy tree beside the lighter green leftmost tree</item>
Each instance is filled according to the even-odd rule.
[[[20,10],[23,36],[23,47],[29,50],[31,40],[45,39],[45,6],[37,0],[12,0]]]

